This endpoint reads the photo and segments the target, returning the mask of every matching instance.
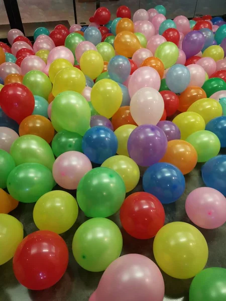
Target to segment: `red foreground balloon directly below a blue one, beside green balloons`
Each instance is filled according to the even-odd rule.
[[[123,228],[138,239],[149,239],[164,226],[165,212],[161,202],[147,192],[127,197],[120,209]]]

